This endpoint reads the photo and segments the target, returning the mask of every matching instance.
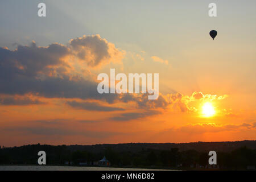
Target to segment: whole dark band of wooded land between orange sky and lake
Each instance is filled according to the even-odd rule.
[[[110,167],[156,169],[252,169],[256,164],[256,140],[237,142],[125,143],[92,146],[29,144],[0,149],[1,165],[38,165],[38,152],[50,166],[96,167],[105,156]],[[216,151],[217,164],[208,164]]]

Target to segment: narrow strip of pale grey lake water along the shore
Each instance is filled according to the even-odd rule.
[[[0,166],[0,171],[155,171],[159,169],[76,167],[76,166]]]

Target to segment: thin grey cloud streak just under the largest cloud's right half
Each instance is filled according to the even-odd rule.
[[[93,110],[93,111],[117,111],[117,110],[124,110],[121,107],[109,107],[109,106],[102,106],[97,102],[77,102],[77,101],[67,101],[66,104],[72,106],[77,109],[84,109],[84,110]]]

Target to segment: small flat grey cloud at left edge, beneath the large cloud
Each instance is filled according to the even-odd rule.
[[[14,97],[14,96],[0,96],[0,105],[35,105],[44,104],[38,99],[31,99],[30,97]]]

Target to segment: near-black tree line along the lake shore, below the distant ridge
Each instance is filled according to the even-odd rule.
[[[38,152],[46,151],[47,165],[73,165],[79,166],[80,162],[93,165],[106,156],[112,167],[147,167],[147,168],[196,168],[207,166],[208,152],[170,148],[158,150],[142,148],[140,151],[115,151],[111,146],[103,151],[72,150],[71,146],[51,146],[47,144],[31,144],[20,147],[0,147],[1,165],[37,165]],[[230,152],[217,152],[217,165],[220,169],[246,169],[247,166],[256,166],[256,150],[246,146]],[[67,163],[68,162],[68,163]],[[182,166],[182,167],[181,167]]]

